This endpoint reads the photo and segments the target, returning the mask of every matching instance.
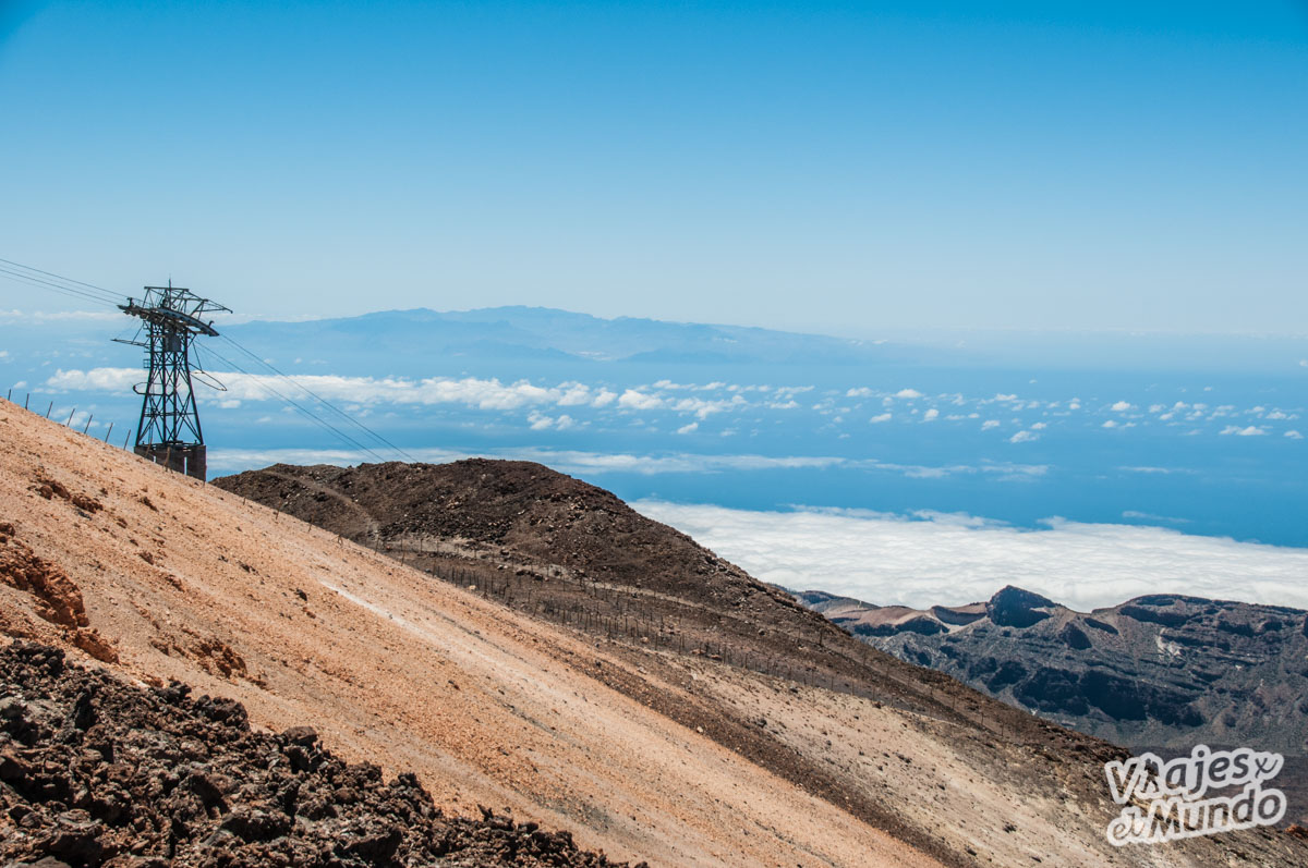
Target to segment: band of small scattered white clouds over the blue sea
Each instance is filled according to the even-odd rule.
[[[8,359],[4,359],[8,361]],[[141,380],[140,369],[94,367],[58,370],[44,382],[44,391],[128,393]],[[200,390],[203,401],[259,401],[275,397],[273,391],[292,396],[301,392],[273,376],[216,373],[228,392],[216,397]],[[1036,450],[1037,441],[1057,442],[1078,431],[1100,431],[1120,439],[1130,429],[1138,433],[1167,430],[1175,435],[1216,435],[1250,438],[1274,434],[1282,441],[1300,439],[1296,420],[1300,405],[1210,405],[1203,401],[1127,400],[1083,404],[1079,397],[1041,400],[1011,393],[968,397],[961,392],[929,395],[916,388],[897,391],[859,386],[848,390],[818,391],[814,386],[740,384],[714,380],[705,384],[658,380],[651,384],[581,383],[576,380],[542,384],[530,380],[501,382],[479,376],[347,376],[298,374],[296,382],[330,401],[357,408],[420,408],[462,405],[464,408],[515,416],[531,430],[568,430],[587,421],[613,425],[645,424],[642,418],[664,420],[663,430],[698,437],[734,437],[743,430],[756,434],[765,424],[808,425],[823,435],[866,437],[871,426],[883,426],[874,437],[893,435],[903,425],[938,422],[956,431],[980,434],[974,442],[990,448]],[[1185,390],[1182,390],[1185,391]],[[810,395],[810,392],[815,392]],[[566,416],[562,425],[544,410],[557,408]],[[636,420],[636,421],[633,421]],[[675,420],[675,424],[672,424]],[[1237,441],[1231,441],[1237,442]],[[1248,442],[1248,441],[1244,441]]]

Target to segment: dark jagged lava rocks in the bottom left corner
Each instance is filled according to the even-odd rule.
[[[411,774],[387,783],[311,727],[255,733],[239,703],[190,693],[0,650],[0,865],[613,864],[566,831],[446,817]]]

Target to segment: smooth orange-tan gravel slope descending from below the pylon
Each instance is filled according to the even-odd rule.
[[[5,635],[89,659],[94,630],[120,676],[310,724],[450,813],[511,808],[651,864],[935,864],[595,680],[641,676],[591,641],[9,404],[0,520],[30,553],[0,578]]]

